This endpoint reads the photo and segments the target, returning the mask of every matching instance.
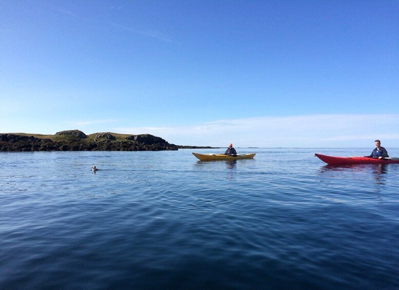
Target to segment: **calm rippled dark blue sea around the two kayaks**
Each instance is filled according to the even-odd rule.
[[[0,153],[0,289],[399,288],[399,164],[236,149]]]

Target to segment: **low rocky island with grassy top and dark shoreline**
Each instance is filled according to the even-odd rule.
[[[0,133],[0,151],[161,151],[184,148],[214,148],[169,144],[151,134],[100,132],[86,135],[80,130],[66,130],[54,135]]]

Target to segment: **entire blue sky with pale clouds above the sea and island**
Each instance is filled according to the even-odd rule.
[[[399,1],[0,0],[0,132],[399,147]]]

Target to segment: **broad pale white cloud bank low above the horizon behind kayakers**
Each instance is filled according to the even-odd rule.
[[[218,120],[190,126],[116,128],[150,133],[179,145],[369,147],[375,139],[399,147],[399,114],[326,114]],[[392,145],[391,145],[392,144]]]

